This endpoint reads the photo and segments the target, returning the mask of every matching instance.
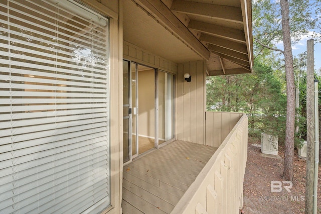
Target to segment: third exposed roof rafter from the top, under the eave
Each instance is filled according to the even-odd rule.
[[[247,54],[247,47],[245,44],[233,42],[227,39],[222,39],[219,37],[202,34],[200,37],[200,41],[207,42],[207,43],[217,45],[223,48],[227,48],[230,50],[234,50],[239,53]]]

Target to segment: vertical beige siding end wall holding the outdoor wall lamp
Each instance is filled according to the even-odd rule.
[[[205,144],[205,61],[178,65],[176,136],[178,140]],[[191,82],[184,74],[191,75]]]

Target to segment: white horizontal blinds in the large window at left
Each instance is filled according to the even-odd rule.
[[[56,2],[0,0],[0,213],[110,205],[108,19]]]

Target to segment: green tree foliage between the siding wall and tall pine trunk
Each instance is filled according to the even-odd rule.
[[[284,141],[286,96],[271,67],[257,60],[252,74],[208,77],[207,110],[246,113],[251,136],[265,132]]]

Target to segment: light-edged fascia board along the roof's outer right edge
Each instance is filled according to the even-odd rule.
[[[244,36],[249,55],[249,64],[251,71],[253,69],[253,38],[252,38],[252,3],[249,0],[241,0],[243,14]]]

